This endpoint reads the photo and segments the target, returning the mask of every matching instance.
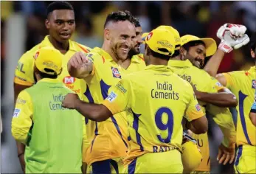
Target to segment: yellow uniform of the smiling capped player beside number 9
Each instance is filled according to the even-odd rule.
[[[217,93],[218,90],[224,88],[213,77],[210,77],[204,70],[198,69],[190,62],[190,60],[169,60],[168,66],[179,77],[187,80],[189,83],[196,86],[198,91]],[[235,142],[235,125],[232,121],[231,113],[228,108],[219,108],[215,105],[207,105],[206,102],[198,101],[202,111],[206,113],[206,109],[213,116],[214,121],[219,125],[224,136],[229,139],[229,142]],[[193,138],[198,141],[198,147],[201,150],[202,161],[196,171],[210,172],[210,149],[207,133],[193,134]]]

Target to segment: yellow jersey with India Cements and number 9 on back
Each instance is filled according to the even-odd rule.
[[[125,164],[144,153],[181,150],[181,120],[204,116],[192,86],[168,66],[147,66],[120,80],[104,100],[112,114],[128,111],[129,150]]]

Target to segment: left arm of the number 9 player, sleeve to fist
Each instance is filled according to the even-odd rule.
[[[125,111],[130,97],[128,88],[128,80],[122,79],[109,89],[111,92],[102,104],[83,102],[77,94],[67,94],[62,105],[64,108],[76,109],[88,119],[103,122],[114,114]]]

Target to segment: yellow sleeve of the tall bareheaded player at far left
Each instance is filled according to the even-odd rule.
[[[34,60],[30,53],[25,53],[18,60],[18,65],[15,69],[14,83],[23,86],[32,86],[34,80]]]

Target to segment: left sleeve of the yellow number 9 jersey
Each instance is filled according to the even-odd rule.
[[[102,104],[105,105],[113,115],[131,107],[131,86],[128,80],[120,80],[120,82],[118,82],[116,86],[112,86],[109,91],[108,97]]]

